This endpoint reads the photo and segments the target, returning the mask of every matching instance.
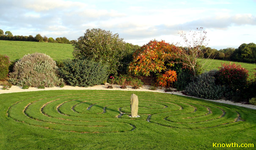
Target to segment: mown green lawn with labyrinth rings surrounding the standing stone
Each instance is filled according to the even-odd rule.
[[[138,118],[128,116],[132,93]],[[0,94],[0,149],[199,150],[234,142],[255,149],[255,118],[253,109],[166,93],[8,93]]]

